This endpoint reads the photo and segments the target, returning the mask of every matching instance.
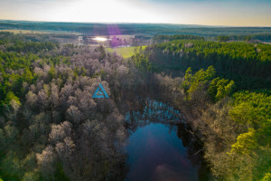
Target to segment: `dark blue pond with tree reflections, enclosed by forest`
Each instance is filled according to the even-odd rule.
[[[145,100],[143,110],[126,114],[126,181],[207,180],[201,143],[174,112],[179,113],[163,102]],[[172,124],[173,119],[179,122]]]

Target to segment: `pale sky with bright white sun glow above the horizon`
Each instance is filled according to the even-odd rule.
[[[271,0],[0,0],[0,19],[271,26]]]

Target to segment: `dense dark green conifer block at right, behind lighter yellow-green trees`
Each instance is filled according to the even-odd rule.
[[[263,43],[218,43],[175,40],[145,49],[154,71],[164,68],[177,74],[188,67],[193,71],[214,66],[220,76],[236,81],[237,89],[270,88],[271,46]],[[181,71],[180,71],[181,70]]]

